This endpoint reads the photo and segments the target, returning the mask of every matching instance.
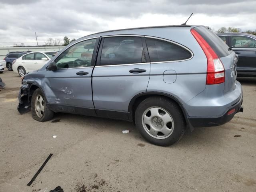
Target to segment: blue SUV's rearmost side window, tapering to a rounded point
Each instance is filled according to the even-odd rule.
[[[185,60],[192,56],[185,48],[164,40],[146,38],[146,43],[151,62]]]

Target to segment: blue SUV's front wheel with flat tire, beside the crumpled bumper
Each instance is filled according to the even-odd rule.
[[[40,122],[51,120],[54,112],[48,109],[44,93],[38,88],[34,91],[31,99],[32,117]]]

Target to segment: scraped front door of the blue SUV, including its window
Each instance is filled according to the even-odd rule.
[[[58,105],[58,111],[94,111],[91,83],[97,45],[98,38],[94,38],[70,46],[54,60],[57,70],[46,71],[46,98],[49,104]]]

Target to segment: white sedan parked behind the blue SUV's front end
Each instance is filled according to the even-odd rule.
[[[28,72],[42,68],[57,53],[56,51],[27,53],[12,62],[12,70],[20,76],[24,76]]]

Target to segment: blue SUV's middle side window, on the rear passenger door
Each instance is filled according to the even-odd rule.
[[[142,62],[146,62],[146,59],[140,37],[107,37],[104,39],[100,65]]]

